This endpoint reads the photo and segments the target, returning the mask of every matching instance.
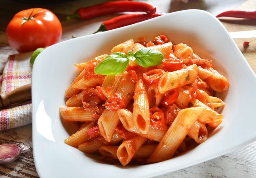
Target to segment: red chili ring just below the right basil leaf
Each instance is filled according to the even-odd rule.
[[[147,71],[143,73],[143,82],[145,82],[147,85],[150,85],[151,83],[157,83],[164,73],[165,71],[162,69],[153,69],[151,71]]]

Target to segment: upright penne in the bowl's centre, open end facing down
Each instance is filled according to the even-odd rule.
[[[147,86],[143,82],[142,77],[139,77],[136,82],[134,93],[134,125],[141,133],[145,134],[148,133],[148,128],[150,127],[150,113]]]

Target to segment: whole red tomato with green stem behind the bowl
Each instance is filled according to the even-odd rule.
[[[18,12],[6,28],[9,45],[20,53],[53,45],[61,40],[61,35],[60,21],[44,8]]]

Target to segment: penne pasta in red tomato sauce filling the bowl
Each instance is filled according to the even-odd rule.
[[[216,108],[225,103],[214,94],[230,84],[211,61],[164,35],[150,42],[128,40],[111,53],[141,48],[160,51],[162,64],[143,68],[131,61],[124,72],[106,76],[94,73],[106,54],[75,64],[81,73],[65,92],[67,106],[59,109],[64,120],[82,124],[66,144],[123,166],[134,160],[147,164],[203,143],[209,128],[221,124],[224,116]]]

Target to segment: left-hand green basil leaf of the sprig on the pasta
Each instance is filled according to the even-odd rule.
[[[127,68],[129,59],[124,53],[112,53],[107,56],[94,69],[94,73],[101,75],[116,75],[120,74]]]

